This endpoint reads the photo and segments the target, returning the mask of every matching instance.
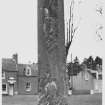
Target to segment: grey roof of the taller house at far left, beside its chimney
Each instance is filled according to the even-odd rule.
[[[2,70],[4,71],[17,71],[16,62],[11,58],[3,58],[2,59]]]

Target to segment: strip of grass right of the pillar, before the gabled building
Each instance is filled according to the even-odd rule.
[[[70,105],[102,105],[102,94],[73,95],[68,101]]]

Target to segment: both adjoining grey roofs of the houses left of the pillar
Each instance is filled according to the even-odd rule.
[[[26,67],[31,68],[31,76],[38,76],[38,65],[37,64],[16,64],[12,58],[2,59],[2,70],[3,71],[18,71],[18,75],[24,76]]]

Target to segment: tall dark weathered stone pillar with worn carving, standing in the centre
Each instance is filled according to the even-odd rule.
[[[57,85],[56,95],[64,96],[66,50],[63,0],[38,0],[38,69],[41,93],[45,95],[46,85],[53,81]]]

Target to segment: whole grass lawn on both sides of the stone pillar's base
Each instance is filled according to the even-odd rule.
[[[2,105],[37,105],[38,96],[3,96]],[[70,105],[102,105],[102,94],[69,96]]]

